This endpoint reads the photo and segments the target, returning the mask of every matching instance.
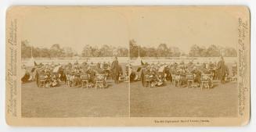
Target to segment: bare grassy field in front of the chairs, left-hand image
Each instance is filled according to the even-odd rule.
[[[37,87],[22,84],[23,117],[128,116],[128,83],[106,89],[81,87]]]

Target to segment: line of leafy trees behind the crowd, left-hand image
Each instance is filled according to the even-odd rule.
[[[32,51],[32,52],[31,52]],[[54,44],[50,48],[38,48],[29,44],[29,41],[21,41],[21,57],[31,58],[31,55],[35,58],[59,58],[59,57],[107,57],[117,55],[118,57],[128,57],[128,48],[114,47],[109,45],[103,45],[100,48],[90,45],[85,45],[81,54],[74,51],[73,48],[62,48],[59,44]]]

